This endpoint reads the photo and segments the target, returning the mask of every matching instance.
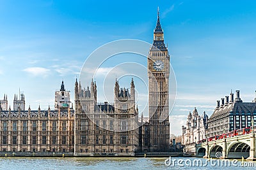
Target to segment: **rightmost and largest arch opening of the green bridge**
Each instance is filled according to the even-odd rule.
[[[243,142],[234,142],[228,145],[227,158],[230,159],[244,159],[250,156],[250,144]]]

